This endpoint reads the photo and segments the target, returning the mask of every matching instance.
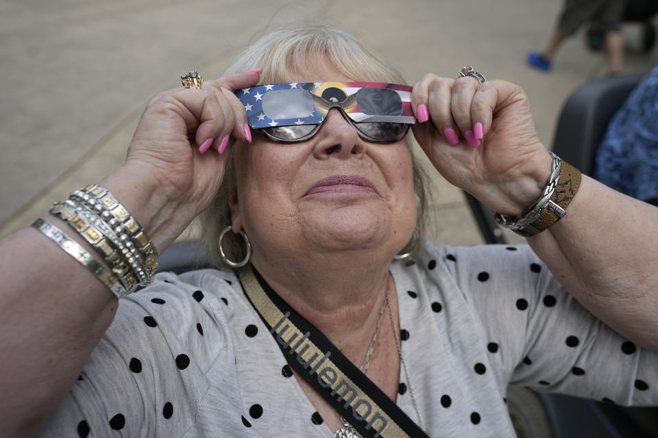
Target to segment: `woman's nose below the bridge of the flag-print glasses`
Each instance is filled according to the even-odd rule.
[[[365,153],[365,142],[337,108],[329,110],[316,136],[319,140],[313,153],[319,159],[357,157]]]

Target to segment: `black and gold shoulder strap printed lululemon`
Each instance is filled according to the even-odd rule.
[[[269,327],[284,357],[364,437],[428,437],[318,329],[258,274],[243,271],[245,295]]]

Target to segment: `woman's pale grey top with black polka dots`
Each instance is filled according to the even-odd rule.
[[[391,263],[398,406],[430,437],[512,437],[509,383],[658,404],[658,354],[596,320],[528,246]],[[163,272],[119,310],[40,437],[332,437],[230,270]]]

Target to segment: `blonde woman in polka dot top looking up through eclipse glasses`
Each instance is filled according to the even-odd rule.
[[[121,168],[2,242],[3,434],[502,437],[511,382],[658,402],[658,210],[550,155],[518,86],[391,85],[325,27],[228,72],[155,96]],[[532,250],[420,238],[410,126]],[[152,281],[204,211],[217,268]]]

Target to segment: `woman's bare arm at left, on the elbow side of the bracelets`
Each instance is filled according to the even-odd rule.
[[[75,238],[66,222],[47,219]],[[118,302],[36,229],[0,241],[0,266],[0,428],[25,436],[69,391]]]

